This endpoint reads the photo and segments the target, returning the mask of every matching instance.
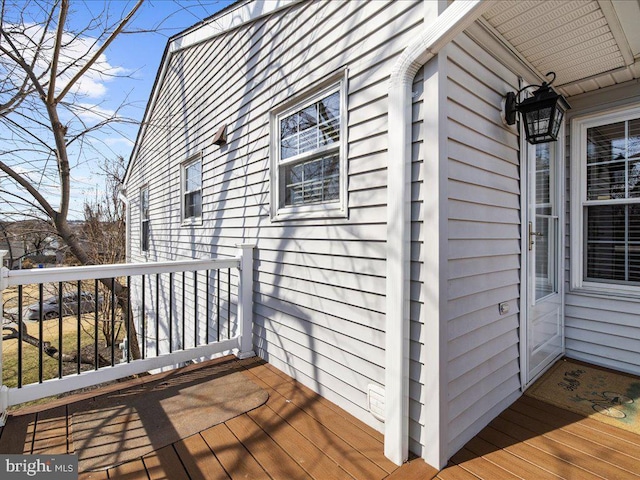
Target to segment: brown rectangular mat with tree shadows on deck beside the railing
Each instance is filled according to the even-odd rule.
[[[81,472],[146,455],[257,408],[268,398],[237,368],[176,372],[69,405]]]

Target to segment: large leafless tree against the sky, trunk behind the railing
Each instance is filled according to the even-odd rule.
[[[105,10],[75,30],[68,0],[1,4],[0,171],[17,187],[4,188],[3,196],[23,211],[44,215],[83,265],[96,259],[69,224],[71,170],[85,158],[83,150],[91,148],[92,134],[130,121],[119,109],[108,112],[88,105],[83,84],[92,77],[118,75],[109,70],[103,54],[142,2],[116,21]],[[126,288],[118,282],[104,285],[115,289],[128,315]],[[131,355],[139,358],[131,330]]]

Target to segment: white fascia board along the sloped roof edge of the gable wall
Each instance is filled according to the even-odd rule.
[[[162,59],[162,63],[160,65],[159,73],[157,75],[156,83],[153,86],[153,91],[151,92],[151,96],[149,98],[147,110],[145,112],[144,118],[142,119],[142,124],[140,125],[140,131],[136,139],[136,144],[133,147],[129,165],[127,166],[127,171],[125,172],[123,180],[123,183],[125,185],[129,180],[131,167],[138,156],[138,149],[140,148],[140,143],[144,138],[147,122],[155,108],[156,101],[158,100],[160,87],[164,82],[167,69],[169,67],[169,64],[171,63],[172,55],[176,52],[184,50],[185,48],[189,48],[199,43],[206,42],[207,40],[229,32],[230,30],[253,22],[260,17],[270,15],[277,10],[288,7],[292,3],[297,3],[299,1],[300,0],[255,0],[238,3],[235,8],[233,8],[232,5],[230,9],[224,10],[219,15],[213,16],[209,20],[204,21],[202,25],[196,25],[186,30],[185,32],[169,39],[167,48],[165,49],[164,58]]]

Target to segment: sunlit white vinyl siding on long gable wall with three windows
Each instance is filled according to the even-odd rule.
[[[163,219],[149,260],[231,256],[255,242],[256,352],[379,430],[367,387],[384,386],[387,90],[423,19],[422,2],[294,3],[172,54],[128,182],[149,184],[151,216]],[[273,222],[271,112],[345,69],[348,218]],[[223,123],[220,148],[211,140]],[[202,224],[177,228],[176,168],[196,151]]]

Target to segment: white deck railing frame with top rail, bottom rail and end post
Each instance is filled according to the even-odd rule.
[[[228,338],[221,339],[218,335],[217,340],[209,341],[209,335],[207,334],[205,343],[202,345],[194,343],[191,346],[182,345],[181,348],[176,350],[169,348],[169,353],[156,354],[156,356],[149,356],[148,358],[144,358],[143,356],[143,359],[130,360],[127,361],[127,363],[115,365],[112,363],[111,365],[100,369],[96,367],[95,370],[78,372],[77,375],[60,375],[59,378],[48,380],[43,380],[41,378],[40,383],[28,384],[20,386],[20,388],[7,388],[7,386],[2,385],[3,359],[2,349],[0,348],[0,426],[4,424],[7,407],[18,403],[36,400],[45,396],[57,395],[70,390],[85,388],[98,383],[117,380],[130,375],[143,373],[153,369],[169,367],[190,360],[206,358],[212,355],[225,354],[229,352],[236,352],[236,355],[239,358],[247,358],[255,355],[253,352],[252,341],[253,248],[254,245],[248,243],[238,245],[236,255],[227,258],[123,263],[111,265],[85,265],[77,267],[53,267],[31,270],[9,270],[6,267],[0,267],[0,318],[4,318],[2,302],[3,291],[11,286],[48,283],[58,283],[61,285],[63,282],[78,282],[78,285],[80,285],[80,282],[83,280],[95,280],[97,282],[101,279],[124,277],[133,278],[136,276],[140,276],[141,278],[149,276],[149,278],[151,278],[153,275],[160,276],[162,274],[170,274],[169,278],[172,279],[173,274],[179,272],[194,272],[194,275],[197,276],[197,272],[203,270],[220,272],[222,269],[228,269],[229,284],[227,291],[230,295],[232,287],[231,270],[237,270],[237,283],[233,285],[234,289],[237,288],[237,311],[234,317],[235,323],[233,324],[235,328],[235,335],[232,335],[229,328],[227,328]],[[3,265],[2,261],[5,254],[6,252],[0,251],[0,266]],[[182,275],[182,278],[184,279],[184,275]],[[209,284],[207,283],[207,285]],[[144,289],[144,280],[142,286]],[[184,283],[182,288],[186,288]],[[194,284],[194,289],[195,288],[196,285]],[[78,290],[79,289],[80,287],[78,286]],[[218,295],[219,293],[220,292],[218,291]],[[207,290],[207,298],[209,295],[210,292]],[[142,302],[144,308],[144,300]],[[170,308],[171,307],[169,307],[169,309]],[[197,311],[197,316],[202,318],[195,320],[196,327],[194,328],[197,328],[198,322],[201,322],[203,318],[208,319],[209,313],[210,312],[207,310],[203,315],[202,312]],[[96,314],[96,321],[97,318]],[[229,315],[227,318],[229,318]],[[216,318],[216,321],[218,322],[216,328],[219,331],[219,316]],[[171,317],[169,317],[169,323],[171,323]],[[200,325],[205,324],[200,323]],[[206,324],[205,330],[209,327],[210,325]],[[157,343],[160,341],[158,332],[156,331],[154,333],[156,334],[155,341]],[[39,341],[43,348],[44,339],[41,337]],[[143,338],[142,342],[144,341],[146,341],[146,339]],[[169,342],[172,342],[171,339]],[[80,370],[79,367],[78,370]]]

